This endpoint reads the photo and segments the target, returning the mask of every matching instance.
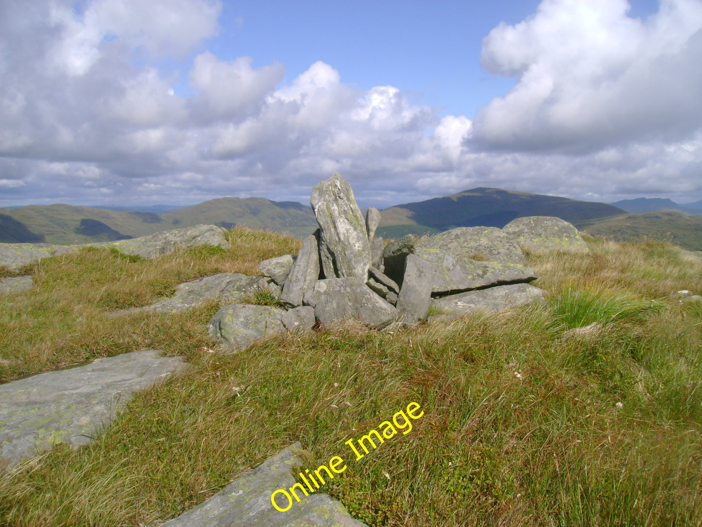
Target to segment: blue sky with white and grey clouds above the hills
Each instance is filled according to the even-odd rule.
[[[702,200],[702,0],[0,0],[0,207]]]

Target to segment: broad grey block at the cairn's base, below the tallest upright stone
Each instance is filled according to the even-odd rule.
[[[362,278],[319,280],[305,294],[305,305],[323,325],[358,319],[364,324],[383,327],[397,318],[397,309],[378,297]]]

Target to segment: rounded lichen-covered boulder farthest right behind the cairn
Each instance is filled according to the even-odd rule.
[[[503,227],[519,247],[529,252],[590,252],[571,223],[554,216],[517,218]]]

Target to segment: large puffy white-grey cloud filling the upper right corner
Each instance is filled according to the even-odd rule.
[[[675,140],[702,122],[702,2],[663,0],[647,20],[625,0],[544,0],[484,39],[482,64],[516,77],[475,117],[496,148],[595,150]]]

